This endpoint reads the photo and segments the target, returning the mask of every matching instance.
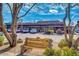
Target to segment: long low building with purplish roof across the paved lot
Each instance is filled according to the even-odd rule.
[[[6,23],[7,31],[11,31],[11,24]],[[38,21],[36,23],[18,23],[17,32],[31,32],[35,29],[36,32],[46,32],[49,28],[56,32],[57,29],[64,30],[64,23],[60,21]]]

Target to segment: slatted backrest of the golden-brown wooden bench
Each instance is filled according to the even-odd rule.
[[[39,37],[26,38],[24,45],[32,48],[51,48],[52,40],[48,38],[41,39]]]

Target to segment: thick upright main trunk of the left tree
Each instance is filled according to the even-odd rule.
[[[13,4],[13,18],[12,18],[12,45],[13,47],[17,44],[17,35],[16,35],[16,29],[17,29],[17,12],[18,12],[18,4]]]

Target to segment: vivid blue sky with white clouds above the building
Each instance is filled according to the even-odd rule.
[[[12,4],[10,4],[12,7]],[[19,16],[23,15],[33,4],[26,3],[20,10]],[[74,4],[72,4],[74,5]],[[60,3],[38,3],[30,12],[20,18],[22,22],[37,22],[37,21],[63,21],[65,16],[65,8],[67,4]],[[79,6],[71,8],[72,23],[75,24],[79,20]],[[3,4],[4,22],[12,22],[11,12],[7,4]],[[68,21],[67,21],[68,23]]]

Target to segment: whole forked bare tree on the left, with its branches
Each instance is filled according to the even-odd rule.
[[[21,17],[24,17],[28,14],[28,12],[36,5],[36,3],[34,3],[29,9],[28,11],[25,12],[24,15],[18,16],[19,12],[21,10],[21,8],[24,6],[23,3],[13,3],[13,7],[11,8],[10,4],[8,4],[8,7],[11,11],[11,16],[12,16],[12,25],[11,25],[11,34],[9,34],[6,31],[6,27],[5,24],[3,23],[3,15],[2,15],[2,10],[3,10],[3,4],[0,3],[0,25],[2,28],[2,32],[4,33],[4,35],[6,36],[10,47],[15,47],[17,44],[17,35],[16,35],[16,28],[17,28],[17,21],[18,19],[20,19]]]

